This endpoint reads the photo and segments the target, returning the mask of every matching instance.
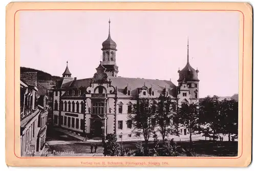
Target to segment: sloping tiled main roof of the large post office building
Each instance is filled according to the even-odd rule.
[[[150,89],[152,88],[155,92],[155,96],[158,97],[163,93],[163,90],[169,89],[169,94],[173,97],[177,97],[177,89],[175,84],[172,81],[168,80],[158,80],[158,79],[143,79],[143,78],[125,78],[125,77],[108,77],[111,79],[111,85],[117,87],[119,95],[124,95],[124,89],[129,85],[131,87],[131,95],[137,94],[137,89],[145,86]],[[90,86],[90,80],[93,78],[78,79],[73,81],[70,84],[69,88],[79,88],[79,87],[88,87]]]

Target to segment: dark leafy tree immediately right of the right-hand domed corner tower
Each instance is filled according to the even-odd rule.
[[[207,96],[200,102],[200,122],[207,125],[214,136],[221,133],[220,101],[218,96]]]

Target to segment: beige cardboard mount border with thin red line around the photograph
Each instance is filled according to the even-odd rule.
[[[238,12],[239,30],[239,154],[238,157],[59,157],[19,155],[19,33],[22,10],[189,10]],[[15,18],[15,19],[14,19]],[[15,33],[14,33],[14,27]],[[15,37],[15,42],[14,42]],[[15,48],[15,50],[14,50]],[[234,59],[236,60],[236,59]],[[15,68],[14,68],[15,66]],[[15,77],[15,78],[14,78]],[[15,90],[15,91],[14,91]],[[15,97],[15,98],[14,98]],[[246,3],[10,3],[6,7],[6,163],[9,166],[248,166],[252,123],[252,7]],[[15,115],[14,115],[15,114]],[[15,117],[14,117],[15,116]],[[15,119],[14,119],[15,118]],[[99,162],[100,164],[95,164]],[[104,162],[104,164],[103,164]],[[113,163],[109,163],[113,162]],[[146,165],[126,162],[145,162]],[[148,164],[160,162],[160,165]],[[162,164],[167,162],[167,164]]]

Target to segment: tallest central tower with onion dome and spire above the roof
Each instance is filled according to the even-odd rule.
[[[108,76],[116,77],[118,67],[116,65],[116,42],[110,36],[110,20],[109,20],[109,36],[102,43],[102,66],[106,69]]]

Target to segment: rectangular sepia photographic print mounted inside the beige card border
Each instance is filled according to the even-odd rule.
[[[20,11],[20,156],[238,156],[239,15]]]

